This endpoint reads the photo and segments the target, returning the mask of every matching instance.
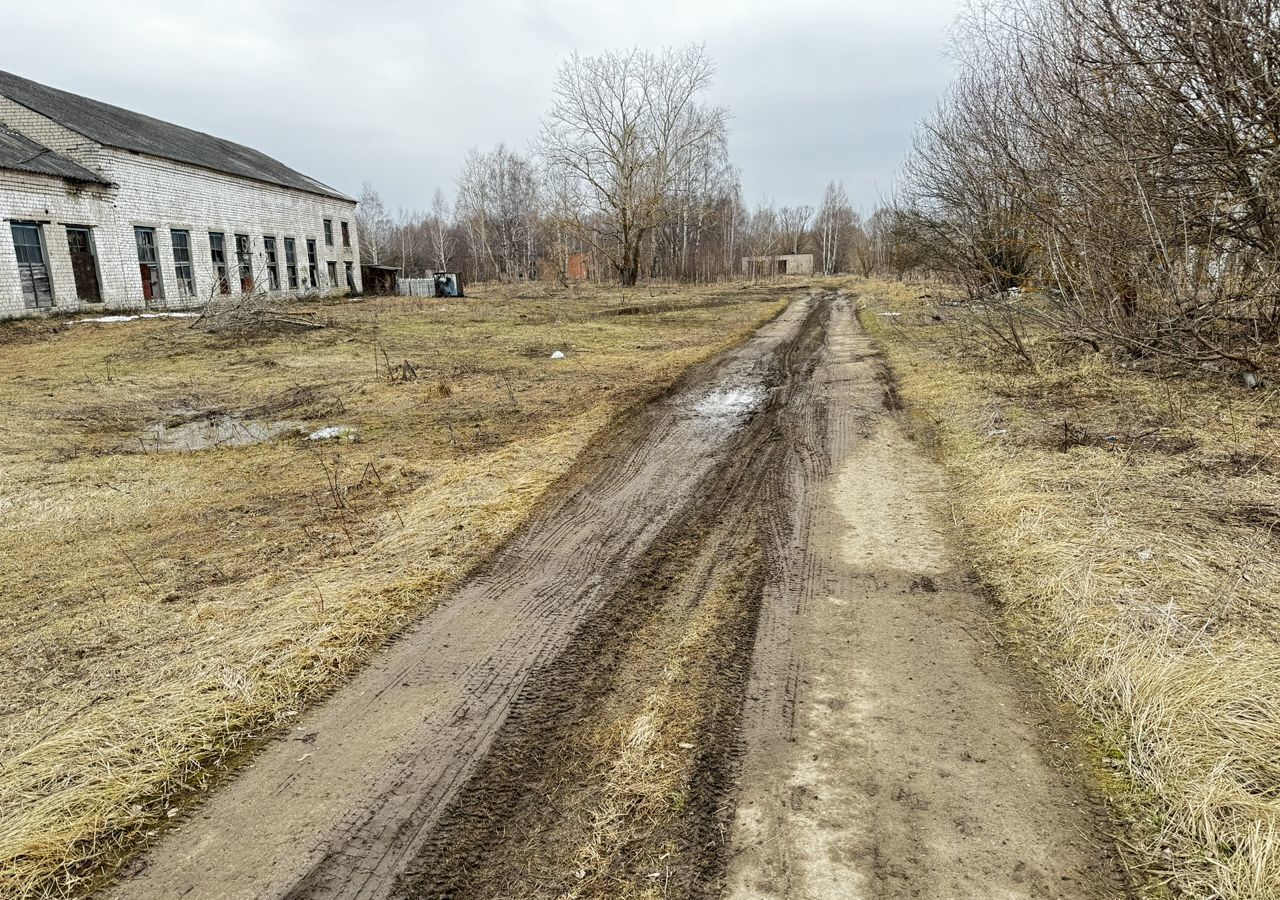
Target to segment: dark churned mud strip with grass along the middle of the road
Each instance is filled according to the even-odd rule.
[[[762,599],[806,538],[796,470],[823,454],[810,383],[828,315],[815,303],[778,348],[722,465],[530,680],[396,896],[716,890]]]

